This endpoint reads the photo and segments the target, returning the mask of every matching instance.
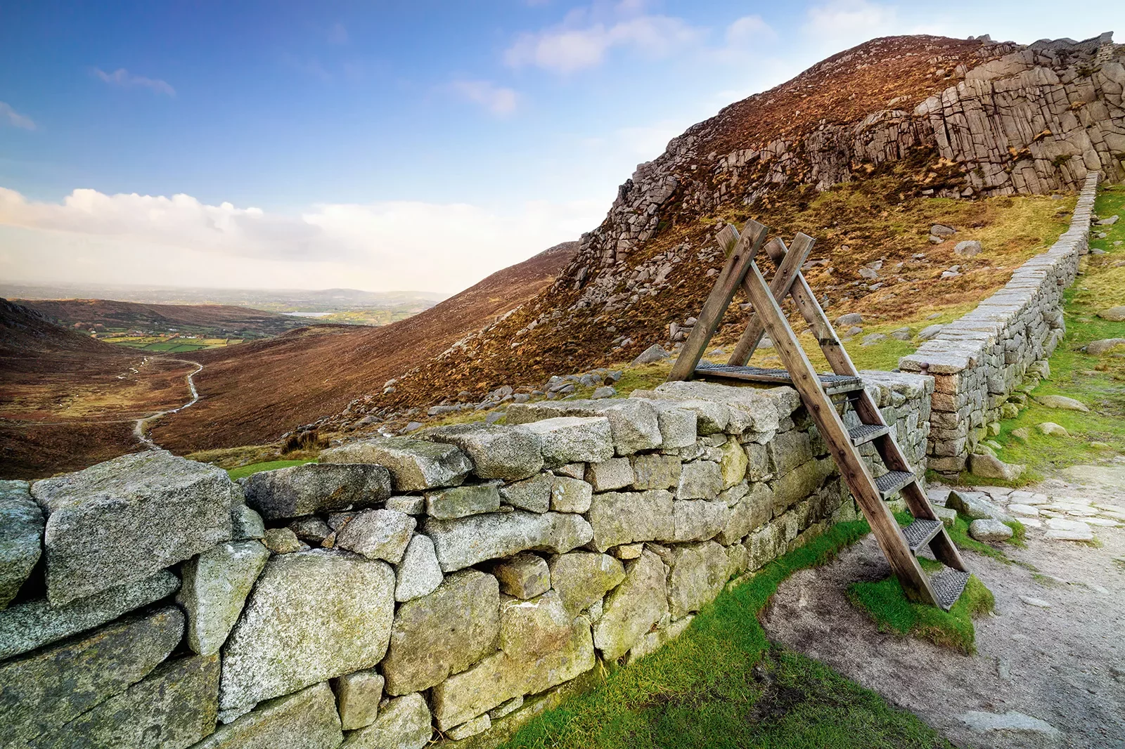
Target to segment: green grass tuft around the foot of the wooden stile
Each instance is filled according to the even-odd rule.
[[[854,583],[848,587],[852,604],[867,612],[880,632],[928,640],[965,655],[976,652],[973,617],[992,611],[996,599],[975,576],[970,576],[961,598],[945,612],[909,601],[898,578],[878,583]]]

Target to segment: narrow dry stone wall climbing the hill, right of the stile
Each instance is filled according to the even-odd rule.
[[[1050,376],[1047,359],[1065,334],[1062,294],[1088,251],[1097,186],[1092,172],[1079,192],[1070,228],[1048,251],[1025,262],[1002,289],[899,361],[901,370],[935,380],[932,469],[954,476],[963,470],[979,443],[999,433],[999,419],[1015,416],[1040,378]]]

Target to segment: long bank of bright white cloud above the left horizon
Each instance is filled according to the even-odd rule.
[[[0,277],[195,286],[459,291],[596,226],[602,201],[313,206],[282,216],[187,195],[74,190],[61,202],[0,188]]]

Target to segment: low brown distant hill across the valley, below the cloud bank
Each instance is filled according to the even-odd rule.
[[[75,323],[107,328],[168,331],[170,328],[215,335],[279,335],[308,321],[278,313],[233,305],[155,305],[109,299],[19,300],[63,325]]]

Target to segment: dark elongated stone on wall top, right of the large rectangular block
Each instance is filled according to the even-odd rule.
[[[364,463],[305,463],[249,476],[246,504],[270,520],[374,507],[390,496],[390,473]]]

